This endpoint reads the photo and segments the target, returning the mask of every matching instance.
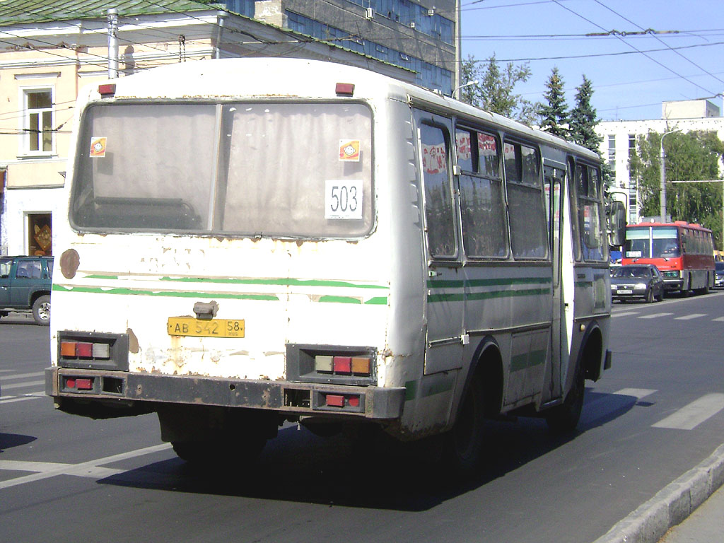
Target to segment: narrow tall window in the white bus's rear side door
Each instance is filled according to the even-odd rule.
[[[432,256],[455,256],[447,140],[441,128],[421,125],[427,242]]]

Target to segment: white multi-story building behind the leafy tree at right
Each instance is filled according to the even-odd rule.
[[[615,174],[615,186],[628,195],[628,222],[639,222],[639,198],[636,180],[631,179],[629,158],[636,148],[636,137],[648,132],[662,134],[669,130],[717,132],[724,140],[724,117],[709,100],[670,101],[661,104],[661,119],[640,121],[606,121],[596,127],[602,136],[601,156]]]

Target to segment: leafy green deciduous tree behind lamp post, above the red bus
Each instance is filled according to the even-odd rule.
[[[660,214],[660,144],[662,135],[649,132],[636,140],[631,155],[631,179],[639,186],[642,216]],[[672,183],[722,179],[719,161],[724,142],[716,132],[673,132],[664,140],[666,153],[666,210],[675,221],[697,222],[714,233],[715,245],[722,246],[722,184]]]

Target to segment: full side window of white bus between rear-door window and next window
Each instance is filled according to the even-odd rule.
[[[467,138],[461,138],[460,134],[467,135]],[[458,165],[463,170],[458,183],[466,256],[505,258],[508,256],[508,231],[505,227],[497,139],[474,130],[458,130],[455,140],[458,144]],[[466,143],[472,145],[467,153]],[[471,173],[466,173],[466,170]]]

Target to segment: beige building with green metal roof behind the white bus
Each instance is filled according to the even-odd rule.
[[[112,4],[99,10],[90,0],[38,4],[30,11],[26,1],[7,0],[0,9],[3,255],[53,253],[54,205],[84,85],[161,64],[232,56],[323,59],[416,80],[406,67],[195,1],[119,2],[117,16],[107,10]]]

